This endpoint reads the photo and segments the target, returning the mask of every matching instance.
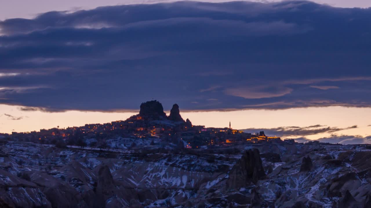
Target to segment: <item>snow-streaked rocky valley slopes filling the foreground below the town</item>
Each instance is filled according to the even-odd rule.
[[[262,144],[179,150],[133,138],[107,144],[104,149],[56,148],[1,141],[0,207],[330,208],[371,203],[371,150],[366,147]]]

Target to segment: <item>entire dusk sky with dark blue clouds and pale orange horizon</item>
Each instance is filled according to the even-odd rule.
[[[2,1],[0,132],[121,120],[156,99],[209,127],[368,142],[370,6]]]

